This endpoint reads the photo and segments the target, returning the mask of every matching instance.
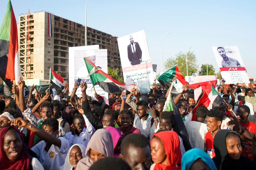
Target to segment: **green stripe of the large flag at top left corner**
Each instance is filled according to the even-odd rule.
[[[12,4],[9,0],[5,16],[3,18],[2,26],[0,28],[0,39],[10,41],[11,34],[11,8]]]

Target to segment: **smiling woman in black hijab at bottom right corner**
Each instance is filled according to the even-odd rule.
[[[213,161],[218,170],[248,170],[256,167],[256,162],[241,155],[242,140],[231,130],[219,131],[213,140],[216,156]]]

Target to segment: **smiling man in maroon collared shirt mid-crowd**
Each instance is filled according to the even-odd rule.
[[[132,113],[128,109],[124,109],[119,113],[120,119],[121,119],[121,127],[116,128],[120,132],[123,132],[125,136],[132,134],[132,133],[138,133],[141,134],[140,130],[137,128],[134,128],[131,124],[132,119]]]

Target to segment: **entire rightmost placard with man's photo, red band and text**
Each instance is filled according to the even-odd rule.
[[[212,47],[226,84],[248,83],[248,75],[237,46]]]

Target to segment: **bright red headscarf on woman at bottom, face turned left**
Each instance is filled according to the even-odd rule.
[[[156,133],[153,137],[154,136],[157,136],[163,142],[163,146],[165,147],[165,152],[169,160],[169,166],[156,164],[154,170],[181,170],[181,148],[178,134],[174,131],[166,131]],[[176,165],[178,167],[176,167]]]

